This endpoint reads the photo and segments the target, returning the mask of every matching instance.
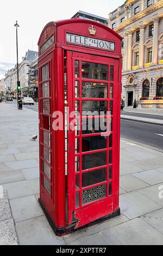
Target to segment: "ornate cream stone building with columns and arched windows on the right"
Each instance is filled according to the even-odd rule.
[[[122,40],[122,97],[141,108],[163,108],[163,0],[128,0],[109,14]]]

